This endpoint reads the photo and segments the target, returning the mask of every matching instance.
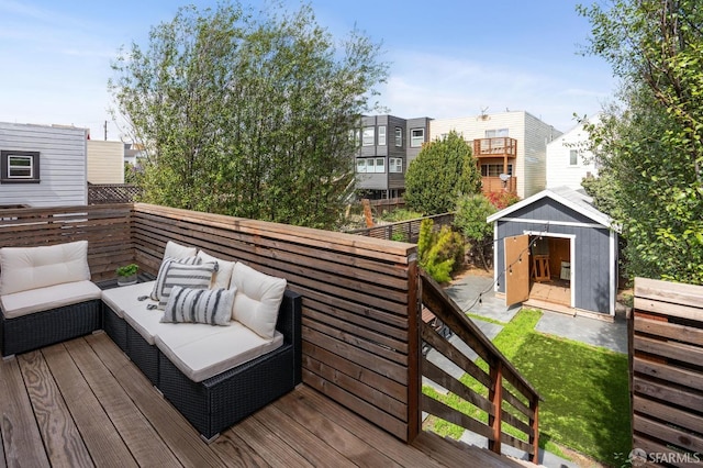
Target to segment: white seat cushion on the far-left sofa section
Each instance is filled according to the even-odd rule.
[[[64,305],[100,299],[102,291],[91,281],[72,281],[0,297],[5,319],[14,319]]]

